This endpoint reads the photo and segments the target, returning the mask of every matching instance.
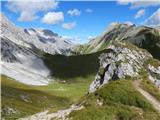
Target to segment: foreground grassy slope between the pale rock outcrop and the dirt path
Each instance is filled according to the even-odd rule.
[[[99,105],[97,101],[103,103]],[[73,120],[158,120],[160,115],[129,80],[112,81],[81,98],[84,109],[72,112]]]

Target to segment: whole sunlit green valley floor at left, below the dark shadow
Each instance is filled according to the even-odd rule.
[[[57,111],[67,108],[87,93],[93,78],[89,76],[87,82],[55,81],[48,86],[29,86],[2,75],[2,117],[14,120],[46,109]]]

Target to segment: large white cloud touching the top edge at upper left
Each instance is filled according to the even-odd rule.
[[[32,21],[39,17],[38,12],[56,9],[58,2],[55,0],[12,0],[8,1],[7,7],[12,12],[20,13],[19,21]]]

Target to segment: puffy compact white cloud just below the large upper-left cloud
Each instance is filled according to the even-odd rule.
[[[42,22],[45,24],[55,25],[64,20],[63,12],[48,12],[42,18]]]

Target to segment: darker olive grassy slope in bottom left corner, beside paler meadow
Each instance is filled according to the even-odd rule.
[[[31,115],[47,108],[62,109],[70,103],[65,97],[35,89],[34,86],[24,85],[3,75],[1,89],[2,117],[9,120]],[[14,113],[11,109],[17,112]]]

